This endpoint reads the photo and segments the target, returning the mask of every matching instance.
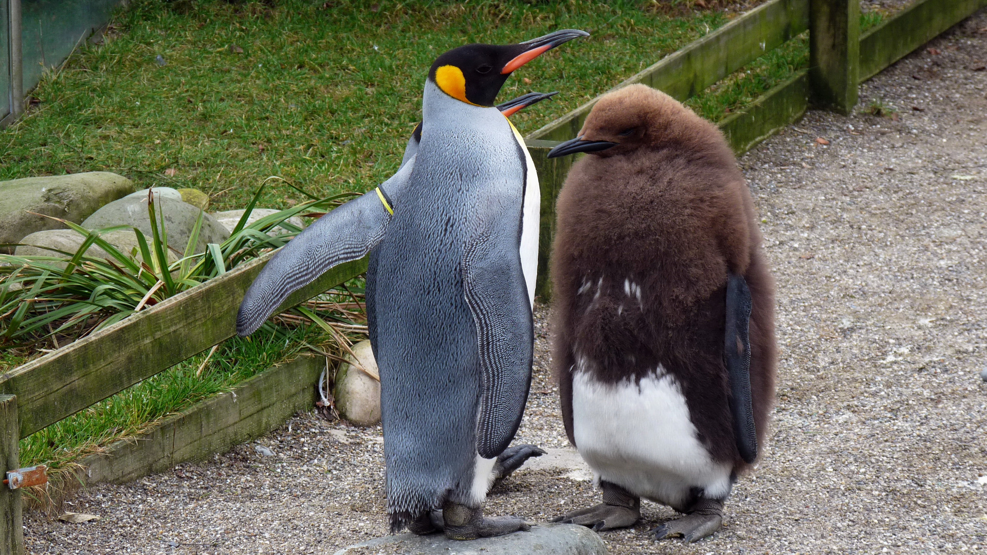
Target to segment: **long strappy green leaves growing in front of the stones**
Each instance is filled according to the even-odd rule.
[[[287,221],[289,218],[312,210],[332,209],[354,195],[314,198],[247,225],[248,216],[263,192],[264,186],[247,205],[229,239],[221,245],[209,244],[205,252],[196,254],[200,213],[184,256],[171,263],[167,256],[168,230],[163,221],[159,227],[156,202],[151,197],[147,204],[153,231],[150,241],[136,227],[121,225],[88,230],[60,220],[83,238],[75,253],[0,254],[0,345],[8,349],[38,350],[50,342],[57,349],[59,337],[63,345],[75,341],[286,244],[301,231]],[[267,235],[274,227],[286,233]],[[129,253],[120,252],[101,237],[117,229],[132,229],[138,248]],[[87,254],[93,245],[106,251],[109,258]]]

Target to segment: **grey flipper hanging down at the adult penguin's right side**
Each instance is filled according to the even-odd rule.
[[[531,386],[533,324],[517,245],[490,236],[468,244],[463,254],[463,290],[480,348],[477,452],[493,458],[517,432]]]

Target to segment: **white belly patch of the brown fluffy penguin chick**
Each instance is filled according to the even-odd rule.
[[[692,488],[716,499],[730,491],[731,465],[699,442],[682,390],[661,366],[640,385],[603,383],[576,369],[572,432],[597,481],[645,499],[681,509]]]

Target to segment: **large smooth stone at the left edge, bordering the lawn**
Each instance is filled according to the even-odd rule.
[[[19,243],[36,231],[66,227],[27,210],[80,223],[100,206],[131,191],[130,180],[110,172],[0,182],[0,243]],[[3,247],[0,252],[9,254],[12,249]]]

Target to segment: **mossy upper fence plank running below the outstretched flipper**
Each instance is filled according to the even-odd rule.
[[[0,376],[0,392],[18,397],[21,436],[30,436],[232,337],[240,301],[271,256],[210,279]],[[295,291],[278,310],[365,270],[366,258],[338,266]]]

